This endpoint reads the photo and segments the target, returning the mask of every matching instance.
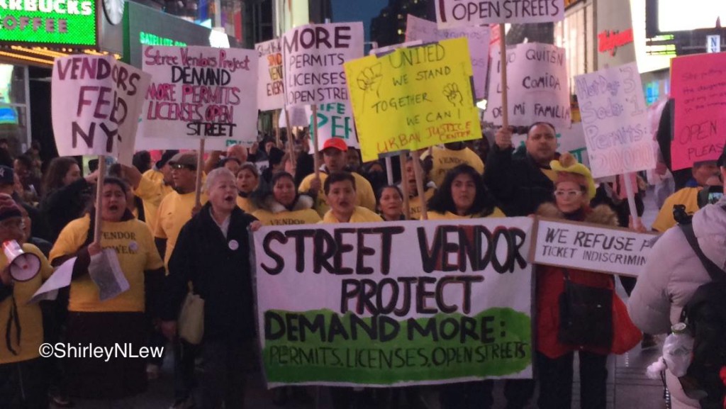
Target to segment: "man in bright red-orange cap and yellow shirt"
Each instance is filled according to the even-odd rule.
[[[315,210],[321,217],[325,216],[325,213],[330,210],[330,206],[327,206],[325,192],[322,191],[322,184],[331,172],[346,170],[347,151],[348,145],[346,145],[345,140],[340,138],[327,139],[325,144],[322,145],[322,158],[325,164],[320,166],[320,177],[317,178],[315,174],[309,174],[303,179],[298,188],[300,193],[306,193],[316,198]],[[356,206],[375,211],[375,194],[370,182],[355,172],[351,174],[356,179]]]

